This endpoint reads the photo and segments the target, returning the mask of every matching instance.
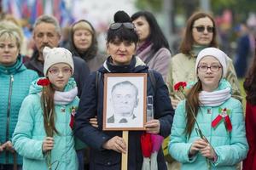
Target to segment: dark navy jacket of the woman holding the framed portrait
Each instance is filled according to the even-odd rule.
[[[84,92],[79,103],[79,111],[75,116],[75,134],[79,139],[88,144],[90,150],[90,169],[96,170],[119,170],[121,162],[121,154],[114,150],[105,150],[102,144],[114,136],[122,136],[121,131],[102,131],[103,120],[103,77],[104,73],[108,72],[133,72],[133,73],[147,73],[148,66],[143,62],[133,57],[130,65],[112,65],[109,58],[104,65],[99,69],[102,73],[100,78],[98,90],[96,91],[96,73],[92,73],[89,77],[89,82],[84,86]],[[147,95],[154,96],[154,118],[160,120],[160,135],[166,137],[170,134],[172,127],[173,109],[170,98],[168,96],[168,89],[160,73],[154,71],[156,80],[156,93],[154,93],[152,84],[148,79]],[[99,127],[92,127],[90,125],[90,118],[97,116]],[[142,169],[143,155],[140,144],[142,131],[129,132],[129,147],[128,147],[128,169],[136,170]],[[166,162],[164,155],[160,149],[158,154],[159,169],[165,170]]]

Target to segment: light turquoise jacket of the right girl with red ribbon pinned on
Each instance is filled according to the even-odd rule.
[[[230,87],[230,83],[223,80],[217,90],[227,87]],[[230,110],[230,121],[232,124],[231,132],[226,130],[223,121],[218,124],[218,127],[212,127],[212,121],[220,113],[218,111],[219,108]],[[240,101],[230,98],[222,105],[214,107],[201,106],[196,120],[201,127],[202,133],[207,137],[218,156],[217,161],[210,161],[211,169],[235,170],[236,163],[245,159],[248,150],[244,117]],[[169,143],[169,153],[174,159],[182,163],[182,169],[206,170],[207,161],[205,157],[201,156],[200,152],[198,152],[192,159],[189,159],[188,155],[191,144],[195,139],[199,139],[200,137],[196,133],[195,127],[192,130],[190,138],[185,135],[184,129],[186,123],[185,101],[183,100],[177,105],[177,110],[175,111]]]

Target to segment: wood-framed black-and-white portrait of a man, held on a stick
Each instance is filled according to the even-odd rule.
[[[147,73],[104,74],[103,130],[145,130]]]

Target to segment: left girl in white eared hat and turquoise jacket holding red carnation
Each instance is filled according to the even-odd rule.
[[[44,78],[32,82],[13,137],[23,169],[78,169],[73,116],[79,99],[73,57],[65,48],[44,48]]]

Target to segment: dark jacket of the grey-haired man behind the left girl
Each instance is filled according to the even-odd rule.
[[[32,55],[32,58],[27,61],[24,65],[27,69],[37,71],[39,77],[44,77],[44,64],[38,60],[38,51],[35,51]],[[87,66],[84,59],[80,59],[79,57],[73,57],[73,65],[74,65],[74,72],[73,77],[77,82],[78,86],[78,96],[82,94],[82,89],[86,82],[87,77],[90,74],[89,67]]]

